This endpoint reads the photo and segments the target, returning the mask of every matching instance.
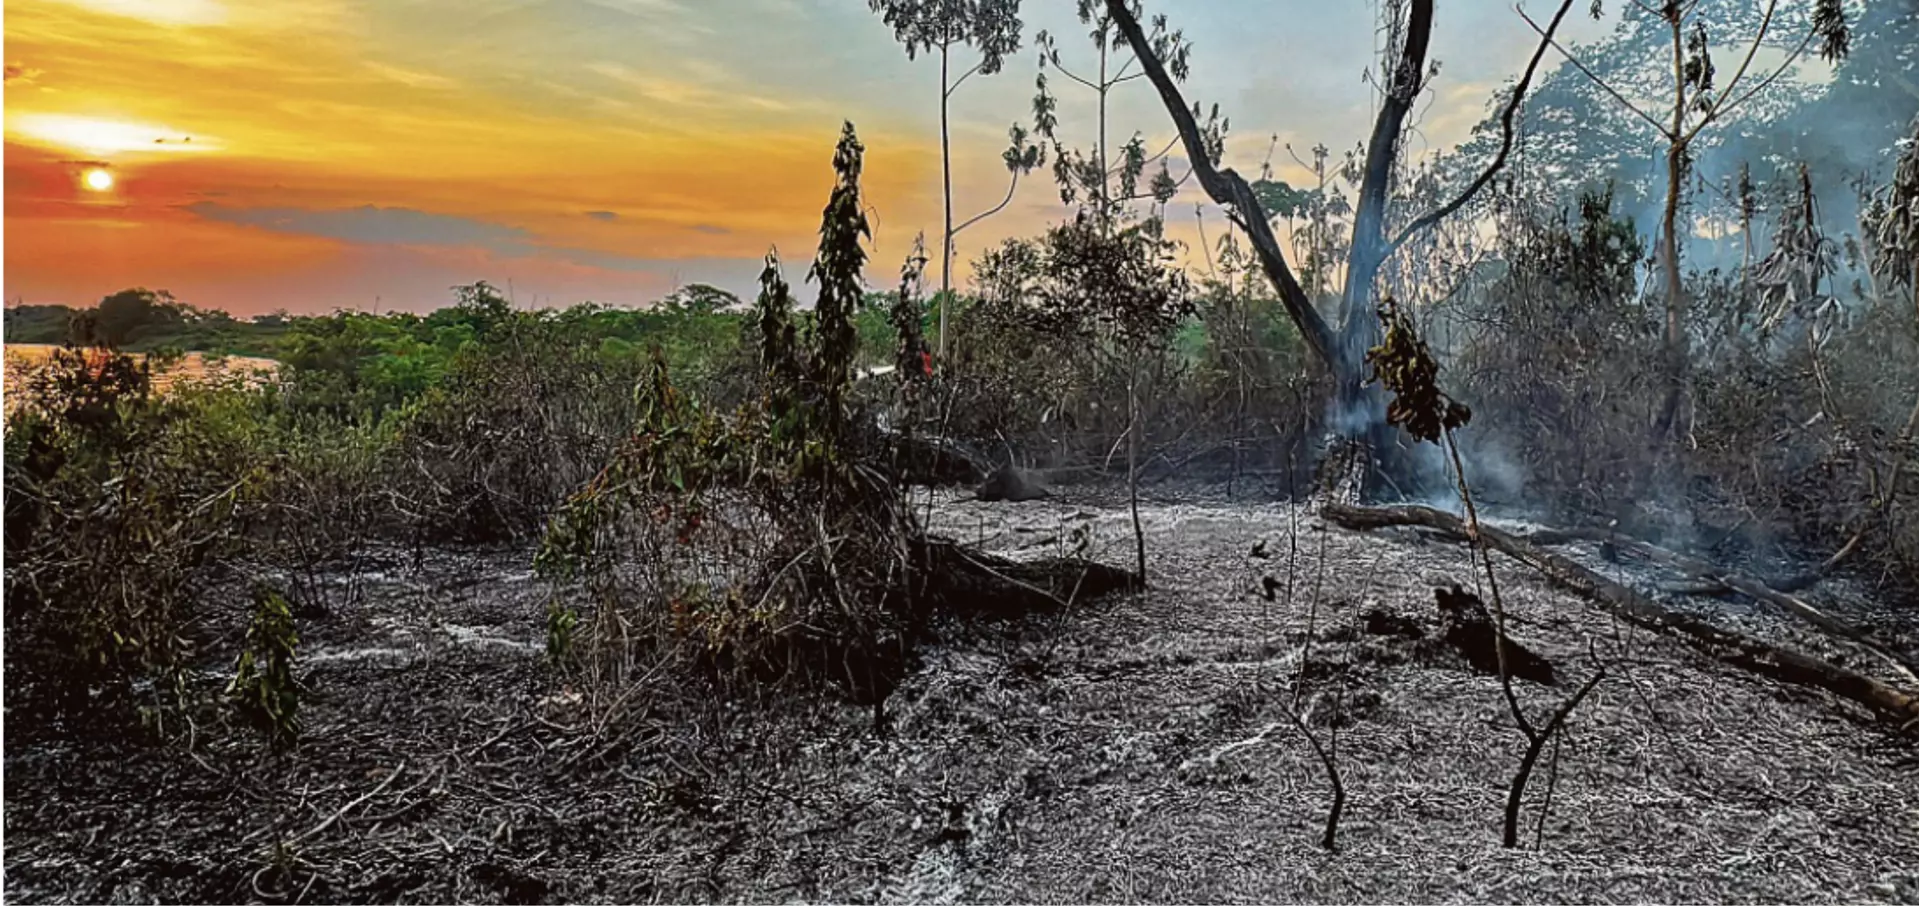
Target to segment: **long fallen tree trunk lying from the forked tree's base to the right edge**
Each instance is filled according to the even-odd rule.
[[[1388,526],[1425,526],[1467,539],[1467,524],[1452,513],[1430,507],[1350,507],[1329,505],[1321,514],[1346,528],[1371,530]],[[1920,697],[1895,689],[1880,680],[1830,664],[1799,651],[1722,630],[1692,616],[1668,610],[1649,597],[1607,580],[1578,562],[1513,537],[1496,528],[1480,526],[1480,541],[1500,553],[1540,570],[1553,584],[1597,603],[1609,614],[1674,635],[1695,651],[1741,670],[1784,683],[1822,689],[1866,706],[1878,718],[1899,729],[1920,727]]]

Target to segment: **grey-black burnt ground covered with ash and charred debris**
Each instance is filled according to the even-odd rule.
[[[828,695],[689,710],[670,678],[597,727],[543,668],[530,551],[380,562],[301,622],[294,752],[213,726],[192,749],[10,726],[6,898],[1920,902],[1920,752],[1832,699],[1503,562],[1515,635],[1561,676],[1519,683],[1536,722],[1611,664],[1505,850],[1524,741],[1498,678],[1432,643],[1432,585],[1473,585],[1461,545],[1217,493],[1140,516],[1150,591],[948,626],[885,735]],[[1091,557],[1133,559],[1112,491],[941,495],[933,524],[1012,557],[1069,553],[1085,526]],[[1269,559],[1248,557],[1261,539]],[[1809,597],[1899,618],[1845,584]],[[1740,603],[1692,607],[1820,647]],[[1908,651],[1914,622],[1889,632]],[[1348,791],[1336,852],[1294,703]]]

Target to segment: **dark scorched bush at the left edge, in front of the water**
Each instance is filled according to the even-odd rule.
[[[250,395],[159,395],[148,363],[67,347],[6,424],[8,708],[159,729],[205,637],[200,585],[265,484]]]

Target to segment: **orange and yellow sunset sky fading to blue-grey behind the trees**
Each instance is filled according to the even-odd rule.
[[[1229,163],[1256,169],[1275,132],[1302,154],[1363,140],[1373,4],[1148,12],[1192,38],[1185,90],[1231,117]],[[1071,0],[1027,0],[1023,19],[1006,69],[954,96],[956,219],[1006,192],[1033,31],[1087,60]],[[1442,4],[1438,21],[1415,150],[1465,138],[1532,50],[1501,2]],[[426,311],[482,278],[541,305],[637,305],[685,282],[745,296],[770,246],[804,274],[843,119],[868,148],[868,276],[891,284],[918,230],[937,242],[939,69],[908,61],[866,0],[8,0],[4,54],[8,303],[150,286],[236,315]],[[1075,94],[1060,119],[1094,132]],[[1114,144],[1171,138],[1144,81],[1112,119]],[[1198,200],[1175,202],[1177,236]],[[962,234],[962,273],[1064,215],[1035,175]]]

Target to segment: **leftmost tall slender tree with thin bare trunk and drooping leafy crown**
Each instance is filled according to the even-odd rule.
[[[948,106],[954,90],[973,75],[993,75],[1008,54],[1020,50],[1020,0],[868,0],[868,8],[893,27],[893,36],[906,48],[908,60],[920,54],[941,58],[941,198],[945,200],[945,228],[941,230],[941,315],[939,351],[947,353],[947,309],[952,296],[954,267],[954,169],[952,169],[952,127]],[[958,48],[972,48],[979,60],[952,75],[952,56]],[[1039,161],[1021,155],[1021,138],[1014,136],[1014,152],[1008,167],[1014,180],[1031,171]],[[1025,169],[1016,169],[1016,159],[1031,159]],[[1008,188],[1012,200],[1012,188]],[[1002,202],[1000,207],[1006,207]],[[998,207],[995,207],[998,211]],[[977,221],[977,217],[975,217]],[[970,225],[975,221],[968,221]]]

